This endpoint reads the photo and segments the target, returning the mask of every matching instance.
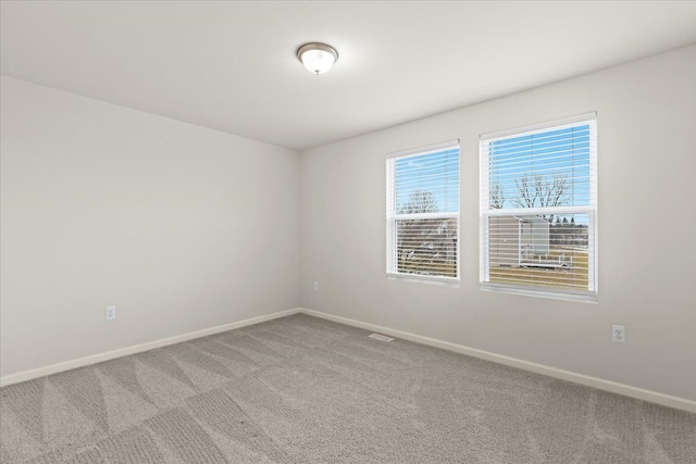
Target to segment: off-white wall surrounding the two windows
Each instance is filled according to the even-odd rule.
[[[478,135],[591,111],[599,302],[481,291]],[[385,154],[455,138],[461,286],[387,280]],[[301,172],[303,306],[696,400],[696,47],[312,149]]]

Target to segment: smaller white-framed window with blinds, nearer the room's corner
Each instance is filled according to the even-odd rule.
[[[387,158],[387,275],[459,279],[459,141]]]

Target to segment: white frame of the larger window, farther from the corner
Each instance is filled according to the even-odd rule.
[[[515,138],[535,133],[545,133],[550,130],[562,129],[582,124],[588,124],[589,129],[589,195],[587,205],[571,206],[544,206],[544,208],[517,208],[494,210],[489,208],[489,150],[488,146],[493,141],[506,138]],[[584,113],[561,120],[554,120],[544,123],[515,127],[495,133],[482,134],[478,139],[478,160],[480,160],[480,271],[478,280],[483,291],[494,291],[502,293],[514,293],[523,296],[533,296],[539,298],[551,298],[568,301],[597,302],[598,301],[598,240],[597,240],[597,210],[598,210],[598,191],[597,191],[597,113]],[[530,173],[530,174],[533,174]],[[513,285],[489,281],[490,272],[490,237],[489,221],[490,217],[505,217],[514,215],[537,215],[537,214],[586,214],[587,215],[587,276],[588,289],[560,289],[533,285]]]

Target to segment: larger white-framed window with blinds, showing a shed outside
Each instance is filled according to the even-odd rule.
[[[481,283],[595,300],[596,115],[481,137]]]

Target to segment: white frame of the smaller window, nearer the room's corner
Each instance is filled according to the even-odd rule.
[[[411,214],[398,214],[396,204],[396,160],[420,156],[424,154],[437,153],[440,151],[457,149],[457,162],[458,162],[458,185],[457,195],[460,197],[458,201],[457,212],[438,212],[438,213],[411,213]],[[410,150],[398,151],[388,153],[386,158],[386,276],[389,280],[405,280],[424,284],[436,285],[449,285],[459,286],[461,277],[461,148],[459,139],[448,140],[440,143],[434,143],[425,147],[419,147]],[[443,218],[457,221],[457,247],[456,247],[456,267],[457,276],[431,276],[421,274],[408,274],[399,273],[398,269],[398,255],[397,255],[397,227],[398,221],[408,220],[427,220],[427,218]]]

